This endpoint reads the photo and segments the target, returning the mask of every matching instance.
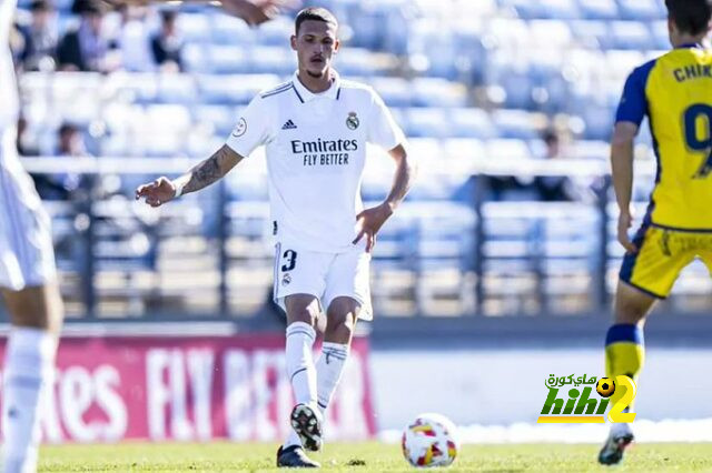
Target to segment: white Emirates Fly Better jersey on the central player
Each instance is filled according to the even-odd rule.
[[[274,234],[310,251],[339,253],[356,238],[366,143],[405,141],[378,94],[340,80],[312,93],[297,74],[257,95],[227,145],[248,157],[264,144]]]

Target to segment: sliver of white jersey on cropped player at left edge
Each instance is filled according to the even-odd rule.
[[[18,118],[18,88],[10,53],[10,28],[17,0],[0,0],[0,135],[14,127]]]

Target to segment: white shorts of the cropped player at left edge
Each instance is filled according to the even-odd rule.
[[[0,288],[19,291],[56,278],[50,219],[20,165],[14,130],[0,130]]]

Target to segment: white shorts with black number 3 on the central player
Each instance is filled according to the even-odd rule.
[[[360,304],[358,318],[373,319],[370,305],[370,253],[363,238],[342,253],[323,253],[278,242],[275,245],[274,300],[284,311],[285,298],[310,294],[320,301],[326,312],[336,298],[347,296]]]

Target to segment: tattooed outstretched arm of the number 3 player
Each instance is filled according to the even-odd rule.
[[[146,203],[160,207],[182,194],[199,191],[218,181],[227,174],[243,157],[224,144],[210,158],[192,167],[180,178],[171,181],[161,177],[149,184],[140,185],[136,190],[136,200],[146,198]]]

